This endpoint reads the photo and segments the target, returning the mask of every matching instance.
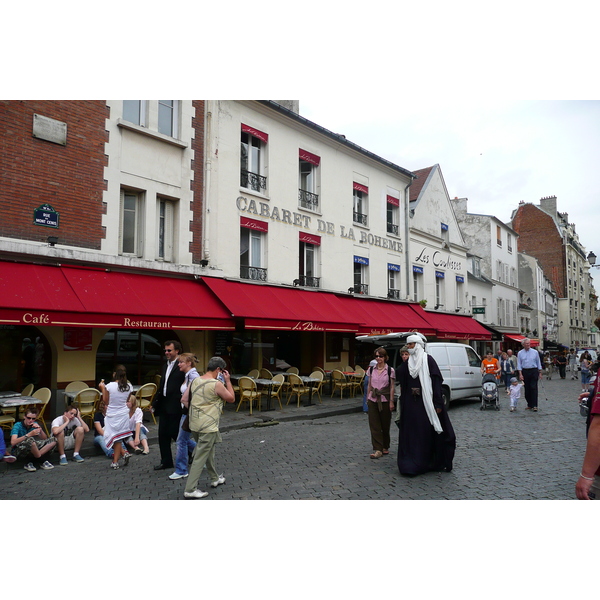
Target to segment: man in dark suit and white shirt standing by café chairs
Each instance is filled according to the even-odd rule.
[[[181,421],[181,386],[185,373],[179,370],[179,354],[182,350],[178,341],[165,342],[167,364],[162,371],[159,389],[157,390],[153,408],[158,416],[158,447],[160,448],[160,464],[155,471],[173,468],[171,440],[177,440],[179,422]]]

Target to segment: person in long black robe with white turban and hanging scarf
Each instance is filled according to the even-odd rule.
[[[415,339],[417,338],[417,339]],[[418,340],[418,342],[417,342]],[[396,373],[396,382],[400,384],[399,420],[400,429],[398,439],[398,470],[401,475],[419,475],[427,471],[451,471],[456,436],[452,423],[448,417],[448,410],[444,406],[442,396],[442,373],[432,356],[424,349],[420,337],[411,335],[407,340],[410,350],[422,354],[422,360],[427,360],[428,369],[420,368],[415,377],[411,376],[410,364],[414,360],[413,353],[407,362],[402,363]],[[420,346],[420,347],[419,347]],[[421,385],[421,377],[428,376],[429,386]],[[438,433],[432,424],[436,418],[428,414],[425,396],[427,389],[432,395],[433,407],[437,415]],[[430,413],[433,410],[430,409]]]

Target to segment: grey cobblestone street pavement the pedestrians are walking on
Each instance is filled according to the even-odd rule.
[[[540,411],[480,411],[477,400],[452,403],[457,434],[454,470],[404,478],[394,450],[369,459],[370,436],[361,398],[323,395],[323,404],[254,412],[228,405],[221,420],[223,443],[217,465],[226,483],[209,487],[204,500],[227,499],[573,499],[585,451],[585,424],[577,406],[579,382],[553,379],[540,386]],[[23,463],[0,464],[0,499],[183,499],[185,480],[154,471],[159,461],[157,427],[150,428],[149,456],[133,456],[127,468],[112,471],[86,440],[83,464],[28,473]],[[68,453],[68,456],[70,453]]]

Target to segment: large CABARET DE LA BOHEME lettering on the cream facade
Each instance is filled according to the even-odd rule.
[[[278,206],[271,206],[266,202],[256,202],[256,200],[246,198],[245,196],[239,196],[235,201],[236,206],[240,212],[254,215],[259,218],[269,219],[270,221],[276,221],[284,223],[286,225],[293,225],[309,231],[314,231],[318,234],[336,236],[340,238],[351,240],[353,242],[360,242],[361,244],[368,244],[370,246],[376,246],[379,248],[386,248],[393,252],[402,252],[402,242],[387,237],[381,237],[374,235],[366,231],[358,231],[355,233],[353,227],[346,227],[345,225],[336,226],[331,221],[324,221],[323,219],[314,219],[310,215],[297,213],[286,208],[279,208]],[[358,235],[357,235],[358,234]]]

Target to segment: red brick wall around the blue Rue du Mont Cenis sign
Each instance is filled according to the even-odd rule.
[[[100,249],[108,112],[104,101],[0,101],[0,236]],[[66,145],[34,138],[34,114],[66,123]],[[42,204],[58,228],[34,225]]]

